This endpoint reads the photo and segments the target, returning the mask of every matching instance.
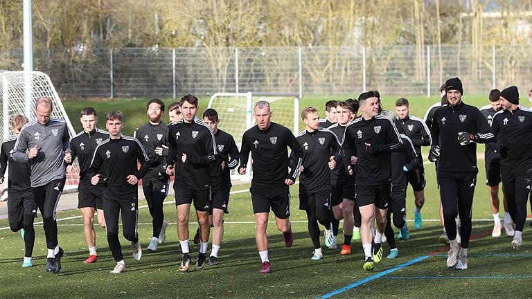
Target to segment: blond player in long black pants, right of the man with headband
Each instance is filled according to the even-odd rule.
[[[340,143],[329,129],[319,127],[318,110],[307,107],[301,112],[305,131],[297,141],[303,147],[303,164],[299,176],[299,208],[305,210],[308,233],[314,245],[312,260],[321,260],[323,252],[319,242],[318,222],[326,228],[330,225],[330,171],[337,166]],[[295,155],[291,154],[291,158]],[[336,156],[336,157],[335,157]]]

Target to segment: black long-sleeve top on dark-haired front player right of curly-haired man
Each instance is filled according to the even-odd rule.
[[[179,120],[170,125],[168,147],[166,165],[175,164],[174,185],[184,185],[191,190],[208,190],[211,187],[210,163],[215,161],[217,154],[211,128],[197,118],[192,123]],[[185,163],[181,159],[182,154],[186,154]]]

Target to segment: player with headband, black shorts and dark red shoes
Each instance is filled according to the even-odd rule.
[[[303,163],[303,149],[290,129],[272,123],[272,110],[268,102],[256,102],[254,116],[257,125],[248,129],[242,136],[238,173],[246,174],[249,152],[251,152],[253,179],[249,192],[256,221],[255,241],[262,260],[259,273],[270,273],[272,266],[268,258],[266,235],[269,210],[275,214],[277,229],[283,233],[285,246],[292,246],[294,235],[289,218],[289,186],[294,185],[299,176]],[[287,147],[294,152],[293,167],[290,172],[288,172]]]

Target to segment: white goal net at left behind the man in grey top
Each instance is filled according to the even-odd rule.
[[[22,114],[30,121],[35,120],[35,102],[41,97],[47,97],[52,100],[53,111],[51,117],[65,120],[70,136],[76,135],[69,116],[64,111],[62,102],[50,78],[45,73],[39,71],[1,71],[0,95],[2,102],[0,113],[2,124],[2,129],[0,130],[1,141],[13,136],[10,123],[12,117],[16,114]],[[76,162],[73,164],[72,172],[67,174],[65,189],[78,188],[79,172],[80,168]]]

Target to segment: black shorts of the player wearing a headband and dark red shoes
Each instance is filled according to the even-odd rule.
[[[269,212],[271,208],[279,219],[290,216],[290,190],[287,185],[271,187],[251,185],[249,192],[254,214]]]

